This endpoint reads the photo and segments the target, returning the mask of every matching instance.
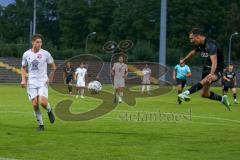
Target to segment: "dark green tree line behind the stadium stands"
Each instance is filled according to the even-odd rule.
[[[169,0],[167,16],[167,63],[177,63],[192,48],[188,32],[200,27],[216,39],[227,56],[230,35],[240,32],[240,1]],[[30,46],[32,0],[16,0],[0,6],[0,56],[21,57]],[[38,0],[37,33],[44,35],[44,48],[55,58],[66,59],[89,53],[108,60],[102,46],[106,41],[130,39],[130,61],[158,61],[160,0]],[[234,37],[232,58],[240,58],[240,36]],[[199,63],[195,59],[193,63]]]

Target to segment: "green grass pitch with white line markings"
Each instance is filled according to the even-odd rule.
[[[106,89],[109,89],[107,87]],[[220,88],[214,91],[221,93]],[[54,107],[67,95],[50,89]],[[176,91],[139,98],[134,107],[120,104],[112,112],[85,122],[56,119],[50,124],[42,110],[45,131],[37,123],[26,91],[0,85],[0,159],[17,160],[237,160],[240,157],[240,108],[232,111],[196,93],[176,104]],[[231,102],[232,94],[229,93]],[[74,98],[72,98],[74,99]],[[85,112],[99,101],[74,99],[72,112]],[[190,114],[191,119],[124,120],[128,113]],[[190,115],[189,115],[190,116]]]

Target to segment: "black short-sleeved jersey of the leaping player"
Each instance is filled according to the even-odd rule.
[[[205,39],[204,44],[195,46],[195,51],[200,54],[203,63],[203,72],[210,72],[212,62],[211,55],[217,55],[217,72],[223,72],[224,69],[224,57],[222,49],[219,44],[209,38]]]

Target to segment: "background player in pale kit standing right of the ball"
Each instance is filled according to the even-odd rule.
[[[123,90],[125,87],[125,79],[128,75],[128,66],[124,63],[124,58],[122,55],[118,57],[118,62],[114,63],[112,67],[112,75],[114,76],[114,89],[115,89],[115,98],[114,103],[122,102]]]

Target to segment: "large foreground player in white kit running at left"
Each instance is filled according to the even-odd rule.
[[[52,82],[56,65],[51,54],[42,49],[43,37],[36,34],[32,37],[32,48],[27,50],[22,57],[22,81],[21,86],[27,87],[29,100],[37,118],[39,131],[44,130],[43,118],[39,109],[39,104],[47,111],[50,123],[54,123],[55,117],[48,102],[48,83]],[[49,77],[47,75],[47,65],[51,66]],[[28,68],[28,79],[27,77]]]

